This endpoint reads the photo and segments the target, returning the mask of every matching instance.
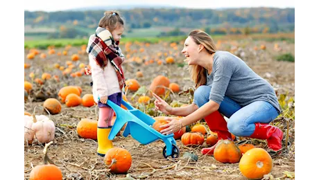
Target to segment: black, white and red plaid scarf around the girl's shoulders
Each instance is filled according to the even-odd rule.
[[[95,35],[89,37],[89,44],[87,46],[87,53],[93,55],[96,63],[102,69],[107,65],[107,59],[110,60],[117,72],[120,89],[126,86],[123,69],[121,67],[124,61],[124,55],[119,48],[119,41],[114,42],[112,34],[105,28],[98,27]]]

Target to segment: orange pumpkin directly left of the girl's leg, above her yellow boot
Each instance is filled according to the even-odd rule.
[[[98,121],[88,118],[83,118],[76,126],[76,132],[81,138],[97,139]]]

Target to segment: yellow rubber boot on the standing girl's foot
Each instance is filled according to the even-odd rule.
[[[108,136],[111,132],[112,127],[98,127],[98,150],[97,153],[100,156],[105,156],[106,152],[113,147],[112,141],[109,140]]]

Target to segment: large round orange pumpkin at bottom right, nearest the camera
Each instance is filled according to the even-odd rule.
[[[239,170],[248,179],[261,179],[273,169],[273,159],[266,150],[255,147],[243,154]]]

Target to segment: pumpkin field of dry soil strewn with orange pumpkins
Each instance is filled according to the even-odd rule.
[[[218,161],[217,156],[202,155],[202,147],[216,143],[216,134],[209,130],[205,120],[200,120],[174,134],[179,150],[177,158],[164,158],[162,152],[165,143],[161,140],[143,145],[130,135],[122,136],[124,125],[112,141],[114,147],[120,147],[113,154],[117,161],[105,161],[104,157],[96,154],[98,107],[92,99],[92,78],[84,74],[85,66],[89,66],[86,45],[25,48],[22,116],[26,138],[24,179],[49,173],[52,177],[62,174],[62,179],[76,180],[245,180],[248,179],[245,174],[252,169],[245,168],[239,161],[243,158],[245,161],[255,161],[261,154],[265,159],[264,166],[261,166],[268,173],[261,174],[258,179],[295,179],[295,44],[280,39],[267,41],[243,38],[214,41],[219,50],[230,51],[241,57],[275,88],[283,109],[282,114],[272,122],[272,125],[284,132],[280,154],[267,153],[266,140],[233,136],[234,141],[230,141],[233,146],[225,146],[220,150],[225,151],[225,156],[227,152],[240,150],[237,157],[229,157],[230,162]],[[162,116],[166,115],[155,111],[155,98],[150,94],[151,84],[162,87],[162,92],[158,93],[172,107],[190,104],[195,88],[188,71],[189,66],[184,62],[184,55],[181,53],[183,44],[183,41],[121,43],[120,47],[126,56],[123,70],[128,84],[124,100],[155,120],[161,120]],[[113,123],[117,116],[121,114],[114,116]],[[34,118],[41,121],[42,125],[32,129],[35,127]],[[35,134],[31,133],[33,131]],[[187,138],[197,138],[198,141],[193,144]],[[245,151],[251,147],[254,148],[249,150],[250,156],[245,156]],[[252,151],[254,149],[255,152]],[[43,165],[44,161],[53,163],[54,167],[36,169],[37,166]],[[114,170],[112,167],[117,165],[117,162],[121,162],[121,167],[117,170],[123,170],[125,166],[128,170],[123,170],[122,173]],[[257,171],[255,175],[258,175]]]

